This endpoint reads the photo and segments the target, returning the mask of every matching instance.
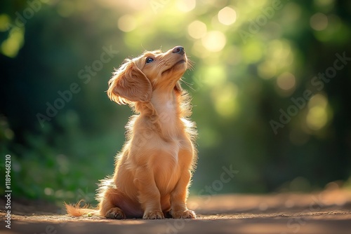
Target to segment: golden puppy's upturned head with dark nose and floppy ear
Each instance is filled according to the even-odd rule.
[[[181,91],[179,79],[188,67],[184,48],[176,46],[162,53],[146,51],[134,59],[127,59],[109,81],[107,95],[118,104],[149,102],[152,91]]]

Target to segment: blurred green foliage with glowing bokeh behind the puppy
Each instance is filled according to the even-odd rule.
[[[16,196],[91,201],[131,115],[105,95],[111,72],[177,45],[195,62],[183,77],[199,130],[193,195],[216,188],[229,165],[239,173],[216,193],[305,191],[351,175],[348,1],[0,6],[0,149]]]

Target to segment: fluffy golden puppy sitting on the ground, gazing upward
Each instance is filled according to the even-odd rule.
[[[190,99],[179,80],[188,67],[184,48],[147,51],[125,60],[109,81],[107,95],[138,113],[126,125],[126,143],[114,175],[101,181],[98,212],[109,219],[193,219],[186,201],[197,159]],[[93,209],[66,205],[80,216]]]

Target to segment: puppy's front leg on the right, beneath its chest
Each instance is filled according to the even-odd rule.
[[[184,170],[178,181],[176,188],[171,194],[171,210],[170,214],[173,219],[195,219],[195,212],[187,209],[187,187],[189,186],[191,172]]]

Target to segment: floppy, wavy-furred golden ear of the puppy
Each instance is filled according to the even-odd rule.
[[[107,95],[118,104],[148,102],[152,95],[152,86],[140,69],[131,60],[123,64],[109,81]]]

